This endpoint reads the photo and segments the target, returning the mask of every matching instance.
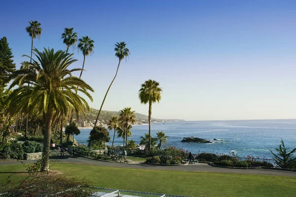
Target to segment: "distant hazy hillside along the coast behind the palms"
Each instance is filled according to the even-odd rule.
[[[94,122],[97,118],[97,115],[99,113],[98,109],[94,109],[91,108],[90,112],[86,112],[85,113],[85,118],[83,117],[83,115],[81,114],[79,116],[79,121],[87,121],[87,122]],[[100,117],[99,117],[99,121],[101,123],[107,123],[108,120],[111,119],[111,117],[113,115],[119,115],[119,111],[101,111]],[[135,113],[136,117],[137,117],[137,123],[148,123],[148,116],[144,115],[144,114],[139,114],[139,113]],[[175,122],[175,121],[185,121],[185,120],[180,120],[180,119],[155,119],[155,118],[151,118],[152,122]]]

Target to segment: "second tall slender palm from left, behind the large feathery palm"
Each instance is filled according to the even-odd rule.
[[[62,37],[61,39],[63,39],[63,43],[66,44],[67,46],[67,51],[66,53],[68,53],[69,51],[69,47],[73,46],[75,47],[76,42],[77,42],[77,38],[78,38],[78,33],[74,32],[73,33],[74,28],[65,28],[64,29],[64,33],[62,33]],[[82,70],[81,70],[82,71]],[[72,114],[72,113],[71,113]],[[61,128],[60,128],[60,143],[62,144],[62,134],[63,134],[63,122],[64,122],[64,117],[62,114],[61,117]],[[70,120],[70,124],[72,123],[72,116],[71,116],[71,120]],[[68,139],[68,138],[67,138]]]

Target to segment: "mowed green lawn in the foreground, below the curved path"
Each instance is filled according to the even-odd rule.
[[[190,197],[293,197],[296,177],[211,172],[140,170],[96,165],[55,163],[51,169],[90,181],[96,187]],[[0,181],[24,171],[22,165],[0,166]],[[14,181],[25,178],[13,174]]]

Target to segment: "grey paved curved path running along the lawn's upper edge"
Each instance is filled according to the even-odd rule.
[[[296,176],[295,171],[274,170],[274,169],[235,169],[224,167],[213,167],[209,164],[188,164],[181,166],[161,166],[161,165],[148,165],[145,163],[135,162],[135,164],[123,164],[113,162],[103,162],[92,160],[83,157],[70,157],[70,156],[55,156],[51,160],[58,160],[61,163],[75,163],[86,165],[100,165],[109,167],[124,167],[134,169],[153,169],[153,170],[176,170],[176,171],[195,171],[195,172],[222,172],[222,173],[237,173],[237,174],[264,174],[264,175],[277,175],[277,176]],[[22,161],[26,164],[33,164],[35,161]],[[6,164],[20,164],[20,162],[0,162],[0,165]]]

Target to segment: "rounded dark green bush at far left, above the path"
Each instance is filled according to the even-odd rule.
[[[17,143],[17,140],[12,141],[10,145],[4,147],[2,151],[4,158],[12,158],[23,160],[24,159],[24,149],[20,143]]]

